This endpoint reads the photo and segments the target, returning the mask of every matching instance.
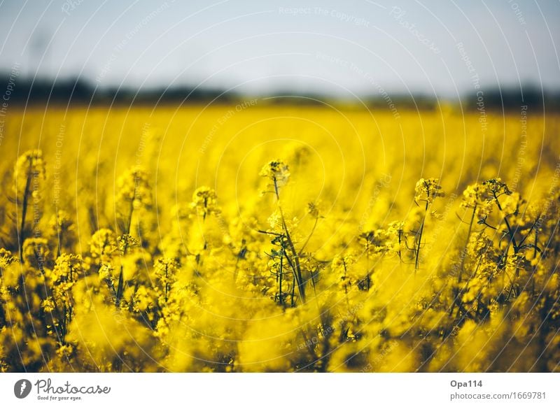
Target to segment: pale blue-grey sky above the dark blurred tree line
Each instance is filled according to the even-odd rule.
[[[0,1],[0,71],[100,87],[560,90],[560,1]]]

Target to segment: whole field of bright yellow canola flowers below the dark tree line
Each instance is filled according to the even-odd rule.
[[[11,107],[1,371],[559,371],[560,120]]]

